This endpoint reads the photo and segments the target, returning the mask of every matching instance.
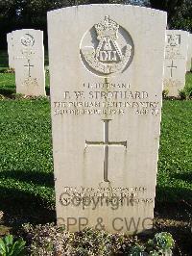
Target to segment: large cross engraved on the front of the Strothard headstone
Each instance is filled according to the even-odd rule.
[[[108,147],[124,146],[127,148],[127,141],[108,141],[108,124],[111,119],[104,121],[104,141],[85,141],[86,146],[103,146],[104,147],[104,181],[108,182]]]

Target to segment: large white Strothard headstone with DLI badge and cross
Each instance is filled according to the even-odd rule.
[[[165,28],[166,13],[127,5],[48,13],[57,217],[67,230],[152,227]]]

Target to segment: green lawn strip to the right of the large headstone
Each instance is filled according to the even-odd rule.
[[[163,102],[157,175],[159,201],[192,201],[192,101]]]

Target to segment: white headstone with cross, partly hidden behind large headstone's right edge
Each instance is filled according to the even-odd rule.
[[[186,31],[167,30],[164,90],[168,91],[168,96],[179,96],[185,86],[188,38]]]

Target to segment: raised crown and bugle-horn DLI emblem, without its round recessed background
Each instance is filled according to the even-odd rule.
[[[93,28],[98,40],[97,47],[85,45],[81,48],[85,65],[99,75],[121,72],[132,57],[132,45],[126,43],[124,51],[119,47],[120,26],[106,15]]]

